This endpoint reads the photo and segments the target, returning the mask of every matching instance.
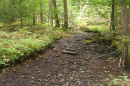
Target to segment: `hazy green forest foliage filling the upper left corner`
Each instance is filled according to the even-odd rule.
[[[20,22],[22,19],[23,24],[31,25],[33,22],[33,11],[40,14],[41,10],[45,13],[44,17],[47,20],[49,13],[48,3],[48,0],[34,0],[34,4],[30,0],[1,0],[0,22],[12,24],[16,21]]]

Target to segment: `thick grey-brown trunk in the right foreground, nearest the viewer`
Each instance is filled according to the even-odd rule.
[[[129,14],[127,11],[125,0],[121,0],[121,24],[122,24],[122,40],[126,39],[128,36],[128,19]],[[123,66],[125,69],[130,69],[130,60],[128,58],[128,43],[122,41],[122,55],[123,55]]]

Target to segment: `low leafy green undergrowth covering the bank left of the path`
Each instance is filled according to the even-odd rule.
[[[61,38],[59,28],[51,33],[50,29],[24,27],[17,31],[0,31],[0,66],[15,64],[16,60],[23,61],[35,51],[49,46],[56,39]]]

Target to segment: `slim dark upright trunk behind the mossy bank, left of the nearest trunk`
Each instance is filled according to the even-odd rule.
[[[111,28],[111,30],[113,30],[113,31],[115,31],[115,22],[114,22],[114,18],[115,18],[115,12],[114,12],[114,10],[115,10],[115,0],[112,0],[112,11],[111,11],[111,26],[110,26],[110,28]]]

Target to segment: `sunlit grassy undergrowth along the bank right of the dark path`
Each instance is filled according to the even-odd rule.
[[[121,30],[120,25],[116,27],[116,31],[110,30],[109,22],[105,22],[106,20],[101,20],[100,22],[94,22],[94,21],[82,21],[78,20],[77,25],[80,26],[80,30],[82,31],[90,31],[90,32],[98,32],[101,34],[101,37],[103,36],[106,40],[112,40],[112,47],[121,50],[122,41],[125,41],[128,43],[128,53],[130,53],[130,37],[125,37],[124,40],[122,40],[121,36]],[[99,24],[98,24],[99,23]],[[121,54],[121,51],[118,52]],[[129,54],[130,58],[130,54]]]

